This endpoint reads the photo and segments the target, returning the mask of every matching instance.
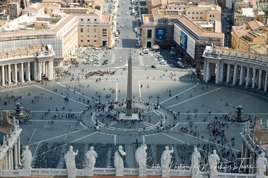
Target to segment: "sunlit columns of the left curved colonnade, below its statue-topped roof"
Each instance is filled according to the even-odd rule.
[[[53,61],[32,61],[1,65],[0,81],[2,85],[25,80],[41,80],[41,75],[51,79],[53,77]]]

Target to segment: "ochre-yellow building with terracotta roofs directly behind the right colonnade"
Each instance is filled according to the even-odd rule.
[[[233,49],[250,51],[250,47],[267,41],[267,30],[263,23],[256,20],[240,26],[233,26],[231,46]]]

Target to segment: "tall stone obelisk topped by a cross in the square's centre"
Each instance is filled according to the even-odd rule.
[[[128,88],[127,88],[127,106],[126,117],[132,116],[132,57],[131,50],[129,50],[129,66],[128,66]]]

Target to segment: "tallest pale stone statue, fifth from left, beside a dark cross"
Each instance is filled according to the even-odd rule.
[[[139,165],[140,174],[146,173],[146,166],[144,166],[146,165],[146,158],[147,158],[146,149],[147,149],[146,144],[142,142],[141,146],[135,152],[135,159]]]

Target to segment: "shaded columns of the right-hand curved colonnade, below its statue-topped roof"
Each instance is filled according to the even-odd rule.
[[[267,91],[268,71],[249,65],[205,61],[203,80],[205,82],[213,80],[215,83],[227,82]]]

